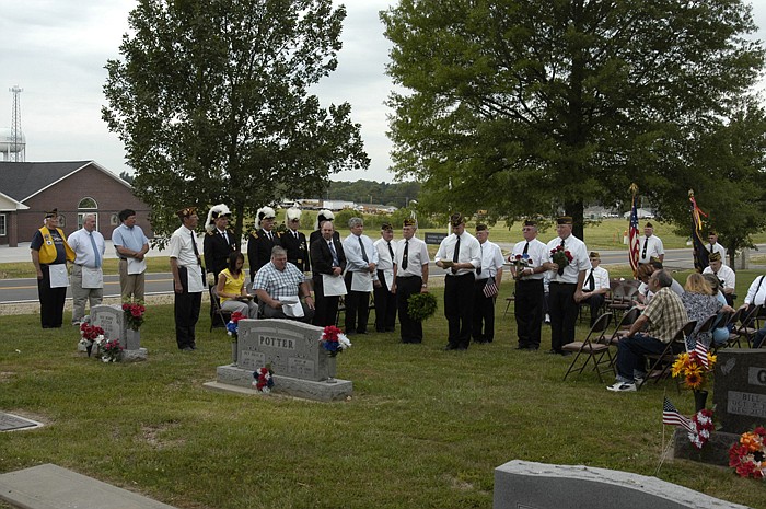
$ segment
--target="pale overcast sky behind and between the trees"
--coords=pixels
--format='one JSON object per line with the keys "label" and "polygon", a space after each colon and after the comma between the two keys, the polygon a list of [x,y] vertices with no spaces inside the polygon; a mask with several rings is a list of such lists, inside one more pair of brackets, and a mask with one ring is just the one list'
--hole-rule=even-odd
{"label": "pale overcast sky behind and between the trees", "polygon": [[[341,3],[336,1],[336,3]],[[349,102],[352,119],[372,163],[367,172],[344,172],[334,180],[391,182],[391,143],[386,138],[391,90],[384,73],[390,43],[378,13],[396,0],[346,0],[344,48],[338,70],[315,89],[324,105]],[[95,160],[106,169],[130,171],[121,142],[101,119],[105,104],[104,65],[119,57],[134,0],[0,0],[0,128],[10,127],[19,85],[26,161]],[[753,12],[766,39],[766,0]]]}

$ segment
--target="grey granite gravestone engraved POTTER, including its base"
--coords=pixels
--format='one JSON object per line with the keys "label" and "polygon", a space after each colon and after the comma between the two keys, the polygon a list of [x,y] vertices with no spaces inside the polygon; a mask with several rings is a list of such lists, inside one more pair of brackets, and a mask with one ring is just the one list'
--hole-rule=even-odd
{"label": "grey granite gravestone engraved POTTER, including its base", "polygon": [[[241,320],[239,323],[237,361],[220,366],[217,382],[210,389],[228,385],[252,387],[253,372],[266,365],[274,370],[275,393],[316,401],[344,400],[353,384],[335,379],[337,358],[322,348],[323,327],[292,320]],[[236,391],[241,392],[241,391]]]}

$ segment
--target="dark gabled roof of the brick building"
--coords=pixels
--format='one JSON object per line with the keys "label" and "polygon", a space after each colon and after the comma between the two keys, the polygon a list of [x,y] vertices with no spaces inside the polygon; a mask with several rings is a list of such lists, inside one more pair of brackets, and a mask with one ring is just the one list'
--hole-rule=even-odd
{"label": "dark gabled roof of the brick building", "polygon": [[0,193],[23,203],[89,165],[130,187],[95,161],[0,162]]}

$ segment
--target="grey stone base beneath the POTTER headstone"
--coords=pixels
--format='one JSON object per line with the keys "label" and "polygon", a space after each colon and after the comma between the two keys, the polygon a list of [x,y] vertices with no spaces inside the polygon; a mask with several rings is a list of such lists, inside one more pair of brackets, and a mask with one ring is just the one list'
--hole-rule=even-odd
{"label": "grey stone base beneath the POTTER headstone", "polygon": [[[217,370],[217,382],[206,383],[208,389],[225,390],[231,387],[232,392],[242,393],[242,389],[253,389],[253,370],[237,368],[236,366],[219,366]],[[254,392],[257,392],[254,390]],[[300,380],[291,377],[274,374],[275,394],[287,394],[293,397],[313,400],[320,402],[330,402],[346,400],[353,392],[353,383],[349,380],[335,379],[335,383],[314,382],[311,380]]]}

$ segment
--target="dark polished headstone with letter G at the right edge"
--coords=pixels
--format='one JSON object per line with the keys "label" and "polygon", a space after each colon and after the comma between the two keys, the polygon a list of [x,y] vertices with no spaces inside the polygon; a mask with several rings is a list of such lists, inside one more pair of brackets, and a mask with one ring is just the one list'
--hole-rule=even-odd
{"label": "dark polished headstone with letter G at the right edge", "polygon": [[713,402],[722,431],[739,435],[766,426],[766,349],[720,350]]}

